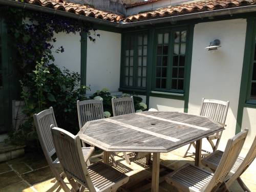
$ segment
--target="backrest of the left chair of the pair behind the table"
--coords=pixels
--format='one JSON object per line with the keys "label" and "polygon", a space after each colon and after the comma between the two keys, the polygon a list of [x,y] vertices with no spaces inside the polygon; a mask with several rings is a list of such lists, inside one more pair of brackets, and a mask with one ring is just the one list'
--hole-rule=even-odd
{"label": "backrest of the left chair of the pair behind the table", "polygon": [[80,129],[87,121],[103,119],[103,103],[102,100],[84,100],[77,101],[77,113]]}

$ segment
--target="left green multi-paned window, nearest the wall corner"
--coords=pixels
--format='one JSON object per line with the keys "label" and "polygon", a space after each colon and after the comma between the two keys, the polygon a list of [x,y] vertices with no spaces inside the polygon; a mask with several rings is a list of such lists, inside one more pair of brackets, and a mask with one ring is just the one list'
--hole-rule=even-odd
{"label": "left green multi-paned window, nearest the wall corner", "polygon": [[146,89],[147,41],[147,32],[123,34],[121,89]]}

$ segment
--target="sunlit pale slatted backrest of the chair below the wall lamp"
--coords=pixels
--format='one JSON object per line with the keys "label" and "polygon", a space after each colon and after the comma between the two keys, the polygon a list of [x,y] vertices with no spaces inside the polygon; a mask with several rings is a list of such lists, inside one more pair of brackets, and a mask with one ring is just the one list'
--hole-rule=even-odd
{"label": "sunlit pale slatted backrest of the chair below the wall lamp", "polygon": [[209,117],[218,123],[225,124],[228,105],[229,101],[203,98],[199,115]]}

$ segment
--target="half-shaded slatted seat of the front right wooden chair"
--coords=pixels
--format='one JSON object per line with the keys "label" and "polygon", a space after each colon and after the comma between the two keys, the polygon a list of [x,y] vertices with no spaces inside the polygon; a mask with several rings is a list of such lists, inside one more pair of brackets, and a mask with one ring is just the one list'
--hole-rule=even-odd
{"label": "half-shaded slatted seat of the front right wooden chair", "polygon": [[181,191],[201,191],[210,182],[214,174],[191,164],[185,164],[165,177],[167,183],[176,186]]}

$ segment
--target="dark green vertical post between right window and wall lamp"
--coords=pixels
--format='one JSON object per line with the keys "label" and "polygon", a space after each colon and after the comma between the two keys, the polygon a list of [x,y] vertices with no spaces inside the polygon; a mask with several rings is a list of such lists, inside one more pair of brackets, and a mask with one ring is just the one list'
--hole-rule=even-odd
{"label": "dark green vertical post between right window and wall lamp", "polygon": [[186,68],[185,68],[185,82],[184,82],[184,92],[185,92],[185,102],[184,102],[184,113],[188,112],[188,101],[189,101],[189,89],[190,89],[190,74],[191,74],[191,62],[193,53],[193,37],[194,37],[194,24],[189,25],[187,42],[188,46],[186,49]]}

